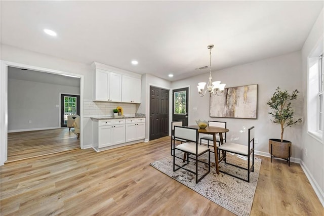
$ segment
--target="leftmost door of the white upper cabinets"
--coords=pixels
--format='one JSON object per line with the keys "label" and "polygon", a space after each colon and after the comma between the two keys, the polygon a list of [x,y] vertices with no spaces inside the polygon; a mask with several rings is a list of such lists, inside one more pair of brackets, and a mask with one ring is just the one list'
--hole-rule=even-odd
{"label": "leftmost door of the white upper cabinets", "polygon": [[109,97],[108,83],[110,79],[109,71],[96,69],[95,71],[95,92],[94,100],[107,101]]}

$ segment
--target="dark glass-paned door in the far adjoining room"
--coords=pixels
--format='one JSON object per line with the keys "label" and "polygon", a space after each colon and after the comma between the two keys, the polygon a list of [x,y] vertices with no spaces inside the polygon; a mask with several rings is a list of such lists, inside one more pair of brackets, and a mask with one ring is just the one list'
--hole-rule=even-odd
{"label": "dark glass-paned door in the far adjoining room", "polygon": [[61,94],[61,127],[66,127],[68,115],[79,115],[80,96]]}

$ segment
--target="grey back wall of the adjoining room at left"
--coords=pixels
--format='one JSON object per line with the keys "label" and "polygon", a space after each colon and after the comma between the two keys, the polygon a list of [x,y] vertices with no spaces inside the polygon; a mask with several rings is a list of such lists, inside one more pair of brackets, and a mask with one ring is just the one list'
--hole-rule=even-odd
{"label": "grey back wall of the adjoining room at left", "polygon": [[79,95],[80,88],[8,79],[8,132],[60,127],[60,93]]}

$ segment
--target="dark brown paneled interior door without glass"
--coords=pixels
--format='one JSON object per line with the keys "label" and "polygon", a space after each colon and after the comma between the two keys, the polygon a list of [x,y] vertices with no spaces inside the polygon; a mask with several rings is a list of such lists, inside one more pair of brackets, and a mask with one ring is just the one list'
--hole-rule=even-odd
{"label": "dark brown paneled interior door without glass", "polygon": [[150,87],[150,140],[169,135],[169,90]]}

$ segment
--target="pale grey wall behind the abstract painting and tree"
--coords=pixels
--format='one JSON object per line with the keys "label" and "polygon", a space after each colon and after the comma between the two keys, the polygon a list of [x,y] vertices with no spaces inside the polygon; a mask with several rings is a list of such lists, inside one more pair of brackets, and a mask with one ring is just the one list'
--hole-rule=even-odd
{"label": "pale grey wall behind the abstract painting and tree", "polygon": [[[258,84],[257,119],[209,117],[210,97],[209,95],[199,97],[196,88],[198,82],[207,82],[208,76],[209,74],[205,73],[172,83],[173,89],[190,85],[189,125],[195,124],[196,119],[226,121],[227,128],[229,129],[227,141],[235,141],[242,144],[247,144],[248,142],[246,133],[242,132],[246,131],[250,126],[255,126],[255,136],[258,139],[258,144],[255,147],[256,151],[259,154],[269,156],[268,140],[280,138],[280,125],[270,121],[270,115],[268,114],[270,109],[267,101],[278,86],[288,91],[301,90],[301,53],[294,52],[212,73],[213,80],[221,80],[222,83],[227,84],[227,88]],[[302,117],[302,104],[303,97],[299,95],[297,103],[293,104],[296,118]],[[193,107],[197,107],[197,111],[193,111]],[[302,125],[294,125],[285,130],[284,139],[290,140],[293,143],[293,158],[300,158],[301,156],[301,129]]]}

